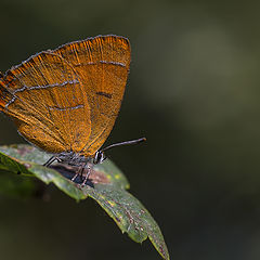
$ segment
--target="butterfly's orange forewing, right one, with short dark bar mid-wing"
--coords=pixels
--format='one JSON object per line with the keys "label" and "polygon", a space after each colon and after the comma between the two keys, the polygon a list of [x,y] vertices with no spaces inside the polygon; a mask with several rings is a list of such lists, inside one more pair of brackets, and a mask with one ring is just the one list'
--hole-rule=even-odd
{"label": "butterfly's orange forewing, right one, with short dark bar mid-wing", "polygon": [[53,53],[75,68],[88,93],[90,135],[81,154],[92,156],[110,133],[120,109],[130,66],[130,43],[117,36],[101,36],[65,44]]}

